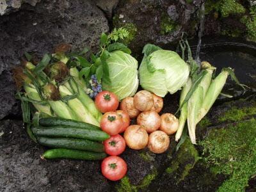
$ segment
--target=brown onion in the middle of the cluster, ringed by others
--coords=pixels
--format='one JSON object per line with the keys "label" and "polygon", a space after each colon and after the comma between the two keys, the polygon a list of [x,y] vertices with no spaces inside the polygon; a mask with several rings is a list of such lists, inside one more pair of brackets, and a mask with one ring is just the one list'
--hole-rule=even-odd
{"label": "brown onion in the middle of the cluster, ringed by others", "polygon": [[137,124],[147,132],[156,131],[161,125],[161,118],[156,111],[145,111],[137,117]]}

